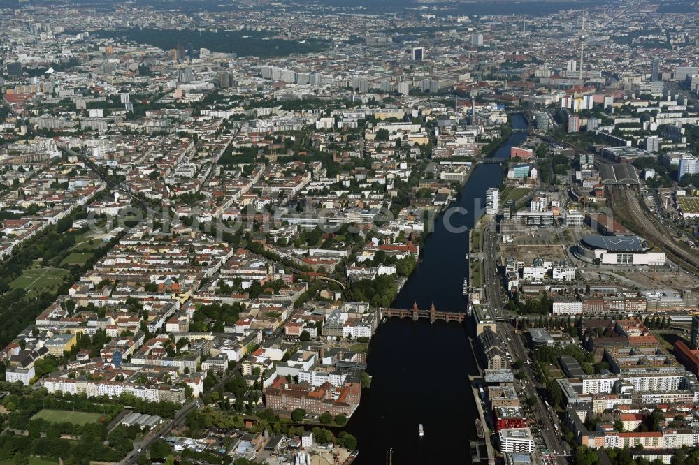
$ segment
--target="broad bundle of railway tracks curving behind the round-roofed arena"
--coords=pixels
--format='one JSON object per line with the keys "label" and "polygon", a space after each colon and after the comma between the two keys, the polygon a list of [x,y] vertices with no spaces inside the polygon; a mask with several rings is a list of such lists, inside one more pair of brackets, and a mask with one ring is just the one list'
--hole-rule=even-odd
{"label": "broad bundle of railway tracks curving behind the round-roofed arena", "polygon": [[637,187],[607,186],[607,202],[614,215],[628,228],[650,240],[685,270],[699,275],[699,257],[679,246],[663,224],[654,217],[640,198]]}

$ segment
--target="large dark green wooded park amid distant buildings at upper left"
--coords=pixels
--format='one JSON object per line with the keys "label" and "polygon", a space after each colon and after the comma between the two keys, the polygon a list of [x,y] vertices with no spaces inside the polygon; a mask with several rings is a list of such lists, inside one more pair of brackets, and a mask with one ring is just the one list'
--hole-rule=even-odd
{"label": "large dark green wooded park amid distant buildings at upper left", "polygon": [[163,50],[171,50],[178,43],[187,49],[192,44],[194,50],[201,47],[212,52],[236,53],[238,57],[285,57],[292,53],[312,53],[326,50],[329,46],[321,40],[308,39],[303,43],[297,40],[270,38],[267,32],[256,31],[193,31],[190,29],[131,29],[94,31],[99,37],[126,37],[138,43],[147,43]]}

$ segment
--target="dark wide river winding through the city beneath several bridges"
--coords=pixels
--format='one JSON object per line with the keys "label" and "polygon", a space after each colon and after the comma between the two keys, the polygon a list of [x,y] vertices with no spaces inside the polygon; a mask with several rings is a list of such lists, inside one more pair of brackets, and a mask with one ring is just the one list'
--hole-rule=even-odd
{"label": "dark wide river winding through the city beneath several bridges", "polygon": [[[511,123],[513,128],[527,127],[521,115],[514,115]],[[510,135],[496,158],[509,157],[510,147],[524,139],[526,134]],[[471,228],[482,214],[485,191],[502,182],[500,165],[478,165],[451,205],[463,209],[449,217],[452,228]],[[421,263],[392,307],[409,309],[417,302],[423,309],[434,303],[440,311],[466,311],[462,285],[468,232],[450,232],[444,219],[435,222]],[[470,463],[468,441],[476,438],[477,410],[468,375],[477,374],[477,367],[466,325],[398,318],[380,325],[368,354],[371,388],[362,392],[347,425],[359,444],[355,464],[387,463],[389,448],[396,465]]]}

